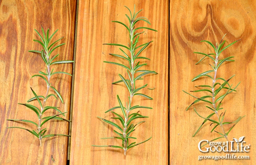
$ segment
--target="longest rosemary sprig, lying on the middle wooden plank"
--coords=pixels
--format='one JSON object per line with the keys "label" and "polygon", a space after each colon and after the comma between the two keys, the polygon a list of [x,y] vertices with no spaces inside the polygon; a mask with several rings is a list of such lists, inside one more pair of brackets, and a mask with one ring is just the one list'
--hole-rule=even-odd
{"label": "longest rosemary sprig, lying on the middle wooden plank", "polygon": [[[155,71],[140,70],[140,68],[142,66],[145,66],[146,63],[141,64],[138,61],[139,59],[149,60],[149,58],[142,57],[139,55],[152,41],[137,46],[137,43],[139,42],[139,35],[144,32],[144,31],[137,32],[138,30],[140,30],[140,29],[148,29],[148,30],[153,30],[153,31],[156,31],[156,30],[149,28],[149,27],[137,27],[136,28],[135,25],[138,21],[145,21],[146,23],[150,24],[149,20],[145,17],[137,17],[137,15],[139,14],[139,12],[142,11],[142,9],[135,13],[135,6],[134,6],[134,12],[132,14],[131,10],[128,7],[126,7],[126,8],[130,12],[130,17],[128,15],[126,15],[126,17],[129,20],[129,25],[127,26],[125,23],[122,23],[120,21],[112,21],[112,22],[122,24],[128,30],[129,35],[130,35],[130,43],[128,44],[128,46],[118,44],[118,43],[105,43],[104,45],[120,46],[121,47],[120,51],[123,53],[123,55],[119,55],[119,54],[110,54],[110,55],[113,55],[115,57],[119,57],[119,58],[122,58],[122,59],[128,61],[129,65],[126,66],[124,64],[116,63],[116,62],[107,62],[107,61],[104,61],[104,62],[114,64],[114,65],[119,65],[126,69],[128,78],[125,78],[123,75],[119,74],[120,80],[116,81],[112,84],[117,84],[117,83],[125,84],[125,87],[128,89],[130,96],[128,97],[128,102],[126,102],[126,107],[125,107],[125,106],[123,106],[122,101],[120,100],[119,96],[117,95],[117,100],[119,102],[119,106],[111,108],[110,110],[105,112],[105,113],[107,113],[107,112],[111,111],[111,113],[113,113],[116,116],[116,117],[112,117],[112,118],[115,120],[119,120],[121,125],[118,125],[117,123],[114,123],[113,121],[98,117],[98,118],[102,119],[103,121],[105,121],[106,123],[111,124],[117,128],[118,131],[114,130],[114,132],[117,134],[117,136],[110,137],[110,138],[121,139],[122,145],[120,145],[120,146],[117,146],[117,145],[93,145],[94,147],[121,148],[124,150],[124,155],[126,155],[126,151],[128,149],[135,147],[136,145],[142,144],[143,142],[146,142],[149,139],[151,139],[151,137],[150,137],[150,138],[146,139],[145,141],[142,141],[137,144],[136,144],[136,142],[129,143],[129,139],[137,139],[137,138],[131,136],[131,133],[135,130],[135,127],[138,124],[145,122],[145,121],[140,121],[139,123],[134,124],[133,120],[135,120],[137,118],[148,118],[148,116],[143,116],[143,115],[139,114],[139,111],[136,113],[132,113],[132,114],[130,114],[130,112],[131,112],[131,110],[134,110],[137,108],[152,109],[151,107],[145,107],[145,106],[139,106],[139,105],[134,106],[132,103],[133,103],[134,96],[142,96],[144,98],[152,100],[151,97],[149,97],[143,93],[139,93],[139,91],[141,89],[145,88],[148,84],[145,84],[141,87],[136,87],[136,81],[142,80],[143,79],[142,77],[145,75],[157,74]],[[127,53],[127,52],[129,52],[129,53]],[[121,109],[122,116],[113,111],[118,108]],[[104,139],[106,139],[106,138],[104,138]]]}

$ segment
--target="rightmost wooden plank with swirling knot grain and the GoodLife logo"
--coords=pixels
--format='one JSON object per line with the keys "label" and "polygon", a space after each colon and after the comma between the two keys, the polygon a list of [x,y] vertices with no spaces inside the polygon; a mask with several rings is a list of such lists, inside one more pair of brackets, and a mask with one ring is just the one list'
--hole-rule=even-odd
{"label": "rightmost wooden plank with swirling knot grain and the GoodLife logo", "polygon": [[[173,0],[170,8],[170,163],[171,164],[256,164],[254,156],[256,151],[255,137],[255,64],[256,64],[256,1],[253,0],[210,0],[187,1]],[[245,136],[245,145],[250,145],[250,151],[236,152],[236,156],[248,155],[250,159],[203,159],[198,156],[225,156],[225,152],[202,153],[198,150],[198,142],[203,139],[218,137],[216,133],[210,133],[212,126],[206,124],[202,130],[192,138],[192,135],[203,122],[202,118],[190,108],[185,111],[194,99],[185,90],[195,90],[194,86],[209,83],[209,79],[191,82],[192,78],[203,71],[210,70],[209,61],[204,60],[200,65],[195,65],[200,60],[200,55],[194,51],[210,53],[206,43],[200,40],[219,42],[222,36],[227,34],[225,40],[232,43],[241,39],[232,47],[226,49],[222,55],[235,56],[235,62],[226,63],[219,69],[218,76],[229,78],[236,74],[230,84],[235,86],[239,82],[238,91],[227,96],[223,108],[227,110],[226,121],[234,121],[239,116],[246,115],[230,132],[229,140]],[[223,57],[223,56],[222,56]],[[211,112],[204,104],[194,106],[203,116]],[[219,139],[217,141],[226,141]],[[241,144],[240,144],[241,145]],[[235,146],[236,147],[236,146]],[[229,152],[229,154],[233,154]]]}

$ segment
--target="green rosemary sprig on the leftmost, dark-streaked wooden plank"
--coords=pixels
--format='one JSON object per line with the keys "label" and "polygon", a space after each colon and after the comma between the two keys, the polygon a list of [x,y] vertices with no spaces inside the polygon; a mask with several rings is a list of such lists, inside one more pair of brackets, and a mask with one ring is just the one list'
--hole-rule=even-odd
{"label": "green rosemary sprig on the leftmost, dark-streaked wooden plank", "polygon": [[[30,120],[19,120],[19,119],[7,119],[9,121],[23,121],[23,122],[27,122],[27,123],[32,123],[37,127],[37,131],[36,130],[29,130],[23,127],[7,127],[7,128],[19,128],[19,129],[24,129],[29,131],[30,133],[32,133],[34,136],[36,136],[39,141],[40,141],[40,146],[42,146],[42,138],[47,138],[47,137],[52,137],[52,136],[57,136],[57,135],[61,135],[61,136],[69,136],[69,135],[64,135],[64,134],[49,134],[49,135],[45,135],[47,129],[44,128],[42,129],[43,124],[45,124],[47,121],[51,120],[51,119],[55,119],[55,120],[64,120],[64,121],[69,121],[70,120],[66,120],[64,118],[58,117],[59,115],[63,115],[67,113],[67,112],[61,112],[58,108],[59,107],[53,107],[53,106],[46,106],[46,101],[47,99],[49,99],[51,96],[53,96],[55,99],[58,98],[61,100],[61,102],[63,103],[63,99],[60,95],[60,93],[58,92],[58,90],[55,89],[55,87],[52,86],[51,83],[51,77],[55,74],[67,74],[72,76],[69,73],[66,72],[53,72],[53,69],[51,70],[51,66],[52,65],[56,65],[56,64],[64,64],[64,63],[73,63],[74,61],[72,60],[63,60],[63,61],[53,61],[59,54],[57,55],[51,55],[52,52],[58,48],[59,46],[64,45],[65,43],[61,43],[57,46],[54,46],[55,43],[57,43],[59,40],[61,40],[63,37],[61,37],[60,39],[56,40],[55,42],[50,44],[50,40],[52,39],[53,35],[58,31],[56,30],[51,36],[49,36],[49,29],[47,30],[47,33],[45,34],[44,29],[42,27],[42,32],[43,32],[43,36],[38,33],[37,30],[35,30],[36,33],[38,34],[38,36],[40,37],[40,40],[35,40],[35,42],[40,43],[40,45],[43,46],[42,51],[37,51],[37,50],[31,50],[29,52],[35,52],[35,53],[40,53],[41,57],[43,59],[43,62],[46,64],[46,72],[42,72],[39,71],[39,74],[34,75],[32,77],[40,77],[43,78],[43,80],[46,82],[47,85],[47,90],[46,90],[46,94],[44,96],[38,96],[35,91],[30,87],[30,89],[32,90],[32,93],[34,94],[35,97],[29,99],[27,102],[31,102],[31,101],[38,101],[40,107],[35,107],[34,105],[31,104],[21,104],[20,105],[24,105],[25,107],[29,108],[30,110],[34,111],[35,114],[37,114],[38,117],[38,124],[35,123],[34,121],[30,121]],[[50,90],[53,90],[54,93],[50,93]],[[43,99],[43,101],[41,101]],[[43,114],[47,111],[47,110],[55,110],[58,112],[58,114],[52,115],[52,116],[47,116],[47,117],[43,117]]]}

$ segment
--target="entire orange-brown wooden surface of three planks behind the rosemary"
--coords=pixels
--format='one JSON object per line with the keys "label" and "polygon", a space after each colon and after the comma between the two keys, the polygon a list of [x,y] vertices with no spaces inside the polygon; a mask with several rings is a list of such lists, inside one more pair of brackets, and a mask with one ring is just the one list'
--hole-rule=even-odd
{"label": "entire orange-brown wooden surface of three planks behind the rosemary", "polygon": [[[168,4],[170,3],[170,4]],[[148,115],[146,122],[137,127],[134,136],[137,142],[150,136],[148,142],[128,150],[127,156],[123,151],[114,148],[96,148],[95,145],[118,143],[117,140],[100,139],[113,136],[113,127],[103,123],[97,116],[110,119],[110,114],[104,112],[118,105],[116,95],[125,102],[127,90],[122,85],[112,85],[119,80],[118,74],[125,74],[119,66],[103,63],[103,61],[120,62],[109,53],[119,54],[117,47],[102,45],[102,43],[128,43],[126,29],[120,24],[111,21],[127,23],[125,14],[127,6],[133,10],[143,9],[140,16],[146,17],[151,25],[140,24],[155,28],[158,32],[146,30],[140,37],[141,43],[153,40],[143,55],[151,58],[145,69],[154,70],[158,75],[145,77],[142,83],[148,83],[149,88],[144,90],[153,98],[152,101],[140,100],[139,105],[147,105],[152,110],[141,110]],[[79,0],[75,84],[73,96],[72,139],[70,164],[249,164],[256,163],[253,147],[256,145],[255,136],[255,48],[256,37],[256,1],[254,0],[172,0],[143,1],[134,0]],[[168,13],[169,10],[169,13]],[[50,28],[50,33],[59,29],[55,39],[64,36],[59,48],[59,60],[73,58],[73,43],[75,34],[75,1],[0,1],[0,164],[66,164],[67,138],[57,137],[44,141],[39,147],[37,138],[29,132],[18,129],[6,129],[8,126],[24,126],[20,123],[6,121],[7,118],[30,119],[35,115],[17,103],[25,103],[33,95],[32,87],[38,93],[44,93],[39,88],[45,85],[37,78],[31,78],[38,71],[44,69],[40,55],[27,52],[38,49],[40,46],[33,42],[38,39],[34,28],[40,31],[41,25]],[[168,15],[169,14],[169,15]],[[168,20],[170,27],[168,25]],[[168,30],[170,35],[168,36]],[[227,43],[241,39],[232,47],[223,52],[224,57],[235,56],[235,62],[227,63],[220,68],[219,76],[229,78],[233,85],[241,82],[237,92],[229,95],[223,102],[227,110],[225,120],[233,121],[239,116],[245,117],[234,127],[229,139],[245,136],[246,145],[250,145],[248,155],[250,159],[222,159],[198,160],[198,156],[218,156],[226,153],[202,153],[198,150],[198,142],[202,139],[218,137],[210,133],[211,126],[206,124],[197,136],[192,138],[203,120],[187,106],[194,99],[182,90],[195,90],[194,86],[209,83],[207,79],[191,82],[199,73],[209,70],[209,61],[195,65],[200,56],[194,51],[210,53],[212,49],[201,40],[219,42],[226,34]],[[168,50],[168,40],[169,50]],[[168,60],[170,68],[168,70]],[[72,72],[72,65],[59,65],[56,70]],[[170,82],[168,82],[170,76]],[[60,90],[64,105],[61,111],[69,111],[71,78],[66,75],[54,79],[55,86]],[[66,82],[66,83],[63,83]],[[169,83],[169,93],[168,93]],[[65,93],[64,93],[65,92]],[[125,95],[122,95],[125,94]],[[168,100],[169,95],[169,100]],[[169,126],[168,126],[169,101]],[[54,102],[59,105],[60,101]],[[207,116],[203,104],[194,106]],[[69,114],[66,115],[67,118]],[[27,125],[31,127],[31,125]],[[67,133],[68,124],[52,122],[47,125],[50,129],[58,127],[54,132]],[[169,139],[168,139],[169,129]],[[169,140],[169,144],[168,144]],[[225,141],[225,140],[220,140]],[[168,148],[169,147],[169,148]],[[169,157],[168,157],[169,151]],[[55,160],[52,161],[51,156]],[[169,159],[169,160],[168,160]]]}

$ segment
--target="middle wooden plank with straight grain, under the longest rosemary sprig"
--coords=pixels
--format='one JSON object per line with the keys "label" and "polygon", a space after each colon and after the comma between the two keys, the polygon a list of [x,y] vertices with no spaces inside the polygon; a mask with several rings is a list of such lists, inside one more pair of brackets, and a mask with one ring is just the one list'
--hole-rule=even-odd
{"label": "middle wooden plank with straight grain, under the longest rosemary sprig", "polygon": [[[133,11],[143,9],[139,16],[149,19],[151,26],[158,32],[146,30],[141,36],[141,42],[154,42],[143,55],[151,58],[145,69],[155,70],[158,75],[145,77],[149,88],[146,94],[153,101],[141,100],[137,104],[147,105],[153,110],[141,110],[148,115],[146,122],[134,132],[137,142],[152,136],[148,142],[128,150],[126,157],[123,150],[113,148],[97,148],[91,145],[117,145],[113,139],[100,139],[114,136],[113,127],[103,123],[97,116],[110,119],[110,114],[104,114],[108,109],[118,105],[116,95],[125,102],[123,93],[128,91],[122,85],[112,85],[119,80],[118,74],[126,71],[119,66],[103,63],[103,61],[118,60],[108,55],[120,53],[119,48],[102,43],[128,42],[126,29],[111,21],[127,23],[124,7]],[[140,24],[142,25],[142,24]],[[139,25],[138,25],[139,26]],[[167,1],[79,1],[78,30],[76,45],[75,84],[73,99],[72,141],[70,164],[148,164],[164,165],[168,163],[168,2]],[[117,113],[119,113],[117,111]],[[119,141],[120,142],[120,141]],[[120,144],[119,144],[120,145]]]}

